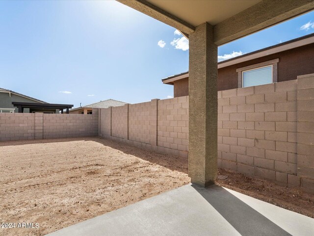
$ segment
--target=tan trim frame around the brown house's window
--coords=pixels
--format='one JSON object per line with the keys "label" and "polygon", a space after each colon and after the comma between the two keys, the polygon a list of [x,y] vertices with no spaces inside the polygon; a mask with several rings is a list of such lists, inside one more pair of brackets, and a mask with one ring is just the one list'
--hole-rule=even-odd
{"label": "tan trim frame around the brown house's window", "polygon": [[237,68],[236,69],[236,72],[238,73],[238,83],[237,83],[238,86],[237,87],[243,88],[243,72],[254,70],[254,69],[259,69],[259,68],[270,66],[270,65],[272,65],[272,83],[277,83],[278,82],[278,62],[279,62],[279,58],[276,58],[272,60],[263,61],[261,63]]}

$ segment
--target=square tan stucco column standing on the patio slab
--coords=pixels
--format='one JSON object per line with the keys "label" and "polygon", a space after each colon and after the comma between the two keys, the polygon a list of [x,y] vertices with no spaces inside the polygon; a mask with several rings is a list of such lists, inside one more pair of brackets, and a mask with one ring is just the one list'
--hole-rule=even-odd
{"label": "square tan stucco column standing on the patio slab", "polygon": [[217,177],[217,46],[213,27],[189,34],[189,154],[191,182],[208,186]]}

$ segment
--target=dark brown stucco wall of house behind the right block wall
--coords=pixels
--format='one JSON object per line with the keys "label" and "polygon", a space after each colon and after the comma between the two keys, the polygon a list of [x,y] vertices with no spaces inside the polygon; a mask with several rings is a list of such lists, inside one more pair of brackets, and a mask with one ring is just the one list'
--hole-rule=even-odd
{"label": "dark brown stucco wall of house behind the right block wall", "polygon": [[[218,69],[217,90],[228,90],[238,88],[238,73],[236,69],[279,59],[278,82],[295,80],[298,75],[314,73],[314,44],[293,48],[266,57],[257,58],[230,65]],[[174,97],[188,95],[188,78],[174,81]]]}

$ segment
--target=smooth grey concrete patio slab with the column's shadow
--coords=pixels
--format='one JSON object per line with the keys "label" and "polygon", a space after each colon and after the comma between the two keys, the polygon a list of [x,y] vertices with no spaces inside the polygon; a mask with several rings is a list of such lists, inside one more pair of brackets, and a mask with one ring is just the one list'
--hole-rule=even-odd
{"label": "smooth grey concrete patio slab with the column's shadow", "polygon": [[314,219],[221,186],[185,185],[49,236],[310,236]]}

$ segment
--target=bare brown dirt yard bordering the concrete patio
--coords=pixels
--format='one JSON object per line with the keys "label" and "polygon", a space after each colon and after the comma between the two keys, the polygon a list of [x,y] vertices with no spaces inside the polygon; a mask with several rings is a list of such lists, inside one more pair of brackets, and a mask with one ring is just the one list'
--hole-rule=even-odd
{"label": "bare brown dirt yard bordering the concrete patio", "polygon": [[[98,137],[0,143],[0,235],[45,235],[187,184],[187,159]],[[314,218],[314,195],[219,170],[217,184]],[[35,225],[34,225],[35,227]]]}

